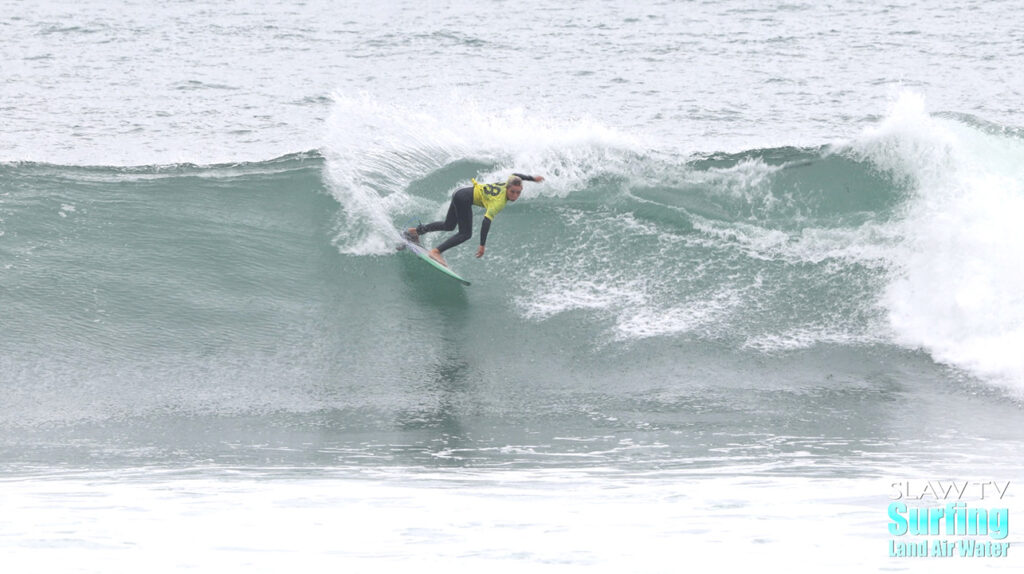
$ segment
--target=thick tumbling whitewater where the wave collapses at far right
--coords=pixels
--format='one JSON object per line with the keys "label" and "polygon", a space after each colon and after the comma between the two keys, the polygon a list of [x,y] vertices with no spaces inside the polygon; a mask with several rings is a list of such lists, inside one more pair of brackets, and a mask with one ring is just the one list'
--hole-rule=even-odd
{"label": "thick tumbling whitewater where the wave collapses at far right", "polygon": [[852,147],[913,189],[883,296],[898,340],[1024,389],[1024,142],[903,94]]}

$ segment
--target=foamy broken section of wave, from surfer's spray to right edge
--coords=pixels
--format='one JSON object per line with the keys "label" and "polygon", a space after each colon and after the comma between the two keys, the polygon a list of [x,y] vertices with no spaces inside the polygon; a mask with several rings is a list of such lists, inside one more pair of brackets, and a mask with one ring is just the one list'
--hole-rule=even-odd
{"label": "foamy broken section of wave, from surfer's spray to right edge", "polygon": [[[1024,383],[1019,130],[932,117],[905,94],[848,142],[683,156],[465,102],[429,116],[337,103],[327,171],[351,177],[331,189],[367,223],[339,235],[343,253],[385,253],[387,221],[440,218],[470,176],[528,166],[554,177],[503,218],[509,248],[493,258],[521,317],[586,318],[599,343],[896,343]],[[482,128],[445,128],[463,123]],[[381,141],[346,138],[366,131]]]}

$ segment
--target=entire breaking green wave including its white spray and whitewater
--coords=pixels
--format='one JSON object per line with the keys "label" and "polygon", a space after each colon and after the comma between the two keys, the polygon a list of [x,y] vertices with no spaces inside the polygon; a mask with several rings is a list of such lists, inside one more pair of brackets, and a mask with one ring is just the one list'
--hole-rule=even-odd
{"label": "entire breaking green wave including its white spray and whitewater", "polygon": [[[593,437],[696,401],[749,435],[897,376],[1024,387],[1012,129],[906,96],[848,142],[683,154],[596,122],[338,96],[328,130],[321,150],[251,164],[0,165],[0,425]],[[548,181],[501,214],[482,260],[450,252],[472,288],[394,253],[395,229],[511,171]],[[836,374],[839,398],[743,418],[767,389]],[[861,406],[846,423],[866,437]],[[658,440],[685,427],[663,423]]]}

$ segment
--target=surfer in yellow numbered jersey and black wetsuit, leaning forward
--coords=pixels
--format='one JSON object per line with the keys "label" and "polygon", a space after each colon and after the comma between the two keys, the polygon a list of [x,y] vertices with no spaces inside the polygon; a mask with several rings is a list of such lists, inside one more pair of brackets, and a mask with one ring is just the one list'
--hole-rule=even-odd
{"label": "surfer in yellow numbered jersey and black wetsuit, leaning forward", "polygon": [[409,240],[419,242],[420,235],[424,233],[451,231],[458,225],[458,233],[429,252],[431,259],[445,267],[447,267],[447,262],[444,261],[441,254],[473,236],[473,206],[479,206],[486,210],[483,214],[483,223],[480,224],[480,247],[476,249],[476,257],[479,258],[483,257],[490,222],[495,220],[498,212],[505,209],[506,202],[514,202],[519,198],[519,195],[522,194],[523,181],[540,183],[544,181],[544,177],[514,173],[504,183],[477,183],[475,179],[472,181],[472,186],[463,187],[452,194],[452,205],[449,206],[449,213],[444,221],[435,221],[426,225],[421,223],[406,230],[406,237]]}

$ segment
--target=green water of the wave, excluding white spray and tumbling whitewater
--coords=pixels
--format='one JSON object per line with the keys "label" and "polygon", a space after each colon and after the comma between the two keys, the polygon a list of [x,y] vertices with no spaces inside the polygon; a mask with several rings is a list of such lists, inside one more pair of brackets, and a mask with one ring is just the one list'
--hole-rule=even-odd
{"label": "green water of the wave, excluding white spray and tumbling whitewater", "polygon": [[366,214],[442,213],[483,161],[358,208],[319,152],[3,166],[5,465],[846,476],[1019,438],[988,425],[1012,392],[891,334],[906,181],[825,147],[612,151],[632,171],[527,184],[483,259],[451,252],[471,288]]}

